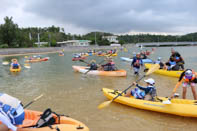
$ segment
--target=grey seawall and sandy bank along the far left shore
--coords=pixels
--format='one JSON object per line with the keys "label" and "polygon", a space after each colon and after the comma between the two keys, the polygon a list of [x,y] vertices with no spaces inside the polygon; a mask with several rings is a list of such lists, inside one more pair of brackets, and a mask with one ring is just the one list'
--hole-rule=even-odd
{"label": "grey seawall and sandy bank along the far left shore", "polygon": [[[67,46],[67,47],[43,47],[43,48],[2,48],[0,49],[0,57],[3,56],[19,56],[19,55],[31,55],[31,54],[48,54],[48,53],[57,53],[59,51],[83,51],[83,50],[92,50],[92,49],[114,49],[117,47],[112,46],[86,46],[86,47],[76,47],[76,46]],[[119,48],[119,47],[118,47]]]}

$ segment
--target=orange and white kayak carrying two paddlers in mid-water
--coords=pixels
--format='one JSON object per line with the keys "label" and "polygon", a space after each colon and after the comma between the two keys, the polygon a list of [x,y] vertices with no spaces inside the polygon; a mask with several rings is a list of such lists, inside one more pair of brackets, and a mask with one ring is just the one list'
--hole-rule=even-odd
{"label": "orange and white kayak carrying two paddlers in mid-water", "polygon": [[99,70],[91,70],[89,71],[89,67],[85,66],[72,66],[73,70],[80,73],[86,73],[90,75],[101,75],[101,76],[126,76],[127,72],[125,70],[117,70],[117,71],[99,71]]}

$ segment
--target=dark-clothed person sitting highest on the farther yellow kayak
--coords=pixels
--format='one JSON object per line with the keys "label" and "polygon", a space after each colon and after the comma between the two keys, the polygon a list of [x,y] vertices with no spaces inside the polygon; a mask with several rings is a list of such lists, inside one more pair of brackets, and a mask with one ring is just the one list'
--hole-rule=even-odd
{"label": "dark-clothed person sitting highest on the farther yellow kayak", "polygon": [[184,70],[184,64],[185,64],[184,59],[182,58],[180,53],[175,51],[173,48],[171,49],[170,58],[172,58],[176,62],[177,69]]}

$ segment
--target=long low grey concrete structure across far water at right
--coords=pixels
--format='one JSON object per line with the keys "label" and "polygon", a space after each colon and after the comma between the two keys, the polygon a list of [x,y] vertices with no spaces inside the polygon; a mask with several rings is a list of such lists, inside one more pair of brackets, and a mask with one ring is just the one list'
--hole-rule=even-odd
{"label": "long low grey concrete structure across far water at right", "polygon": [[137,43],[136,46],[187,46],[197,45],[197,42],[152,42],[152,43]]}

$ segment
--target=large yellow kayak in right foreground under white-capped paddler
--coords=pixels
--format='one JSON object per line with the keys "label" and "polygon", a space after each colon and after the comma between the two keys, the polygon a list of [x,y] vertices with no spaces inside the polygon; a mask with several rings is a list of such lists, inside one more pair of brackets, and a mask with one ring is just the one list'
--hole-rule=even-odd
{"label": "large yellow kayak in right foreground under white-capped paddler", "polygon": [[[118,93],[120,93],[107,88],[103,88],[102,91],[104,95],[110,100],[116,97]],[[162,101],[167,100],[167,98],[164,97],[158,98]],[[171,104],[163,104],[161,101],[153,102],[148,100],[135,99],[134,97],[119,96],[117,99],[115,99],[115,102],[144,110],[162,112],[178,116],[197,117],[196,100],[172,99]]]}

